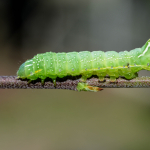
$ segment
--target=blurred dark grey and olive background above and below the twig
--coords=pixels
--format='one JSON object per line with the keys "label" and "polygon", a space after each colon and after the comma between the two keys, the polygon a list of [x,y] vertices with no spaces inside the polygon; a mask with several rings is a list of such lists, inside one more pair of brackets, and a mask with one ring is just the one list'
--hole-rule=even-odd
{"label": "blurred dark grey and olive background above and below the twig", "polygon": [[[0,75],[16,75],[47,51],[142,47],[150,38],[149,8],[149,0],[1,0]],[[0,90],[0,149],[150,149],[149,93]]]}

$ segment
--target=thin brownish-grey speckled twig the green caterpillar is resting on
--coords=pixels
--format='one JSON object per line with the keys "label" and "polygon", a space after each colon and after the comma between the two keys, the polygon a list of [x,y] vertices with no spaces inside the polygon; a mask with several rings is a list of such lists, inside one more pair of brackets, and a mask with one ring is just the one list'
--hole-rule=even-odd
{"label": "thin brownish-grey speckled twig the green caterpillar is resting on", "polygon": [[[45,81],[42,85],[40,80],[35,83],[28,83],[27,80],[17,79],[16,76],[0,76],[0,89],[68,89],[77,90],[77,84],[81,82],[80,79],[65,79],[64,81],[57,81],[56,86],[53,82]],[[116,82],[110,82],[109,78],[106,78],[104,82],[100,82],[98,78],[90,78],[87,83],[91,86],[97,86],[100,88],[149,88],[150,77],[137,77],[132,80],[126,80],[119,78]]]}

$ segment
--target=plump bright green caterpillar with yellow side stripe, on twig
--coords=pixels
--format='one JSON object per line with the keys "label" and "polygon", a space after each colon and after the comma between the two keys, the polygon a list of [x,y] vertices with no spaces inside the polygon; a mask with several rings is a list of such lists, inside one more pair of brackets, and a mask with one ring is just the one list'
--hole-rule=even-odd
{"label": "plump bright green caterpillar with yellow side stripe, on twig", "polygon": [[[114,82],[119,76],[126,79],[135,78],[139,70],[150,70],[150,39],[142,48],[129,52],[81,51],[37,54],[20,66],[17,76],[30,81],[41,78],[42,83],[49,77],[55,83],[57,77],[63,78],[67,75],[82,75],[83,81],[92,75],[97,75],[100,81],[103,81],[104,77],[109,75],[110,80]],[[80,91],[89,88],[81,82],[77,89]]]}

